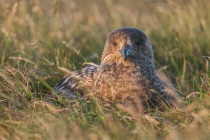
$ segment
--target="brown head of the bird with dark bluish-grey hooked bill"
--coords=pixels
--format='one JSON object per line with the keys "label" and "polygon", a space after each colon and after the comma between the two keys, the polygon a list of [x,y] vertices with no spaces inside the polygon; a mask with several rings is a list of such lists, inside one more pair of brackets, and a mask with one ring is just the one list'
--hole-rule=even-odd
{"label": "brown head of the bird with dark bluish-grey hooked bill", "polygon": [[110,33],[106,40],[101,63],[153,62],[152,45],[147,35],[136,28],[119,28]]}

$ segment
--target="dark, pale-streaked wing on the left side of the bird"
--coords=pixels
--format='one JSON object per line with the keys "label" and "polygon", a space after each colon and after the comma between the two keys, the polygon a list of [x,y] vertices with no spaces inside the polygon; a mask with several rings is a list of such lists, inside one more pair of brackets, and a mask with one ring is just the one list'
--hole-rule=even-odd
{"label": "dark, pale-streaked wing on the left side of the bird", "polygon": [[55,85],[55,92],[69,99],[77,99],[83,96],[89,90],[92,90],[94,75],[98,68],[98,65],[91,64],[66,75]]}

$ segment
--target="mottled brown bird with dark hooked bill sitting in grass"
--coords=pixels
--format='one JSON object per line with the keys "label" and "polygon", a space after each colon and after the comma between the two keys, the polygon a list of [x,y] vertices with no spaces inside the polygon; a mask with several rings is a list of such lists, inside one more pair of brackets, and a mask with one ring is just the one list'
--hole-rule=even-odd
{"label": "mottled brown bird with dark hooked bill sitting in grass", "polygon": [[140,29],[121,27],[108,35],[100,65],[88,64],[71,72],[54,91],[70,100],[91,95],[137,111],[184,108],[171,82],[156,72],[148,36]]}

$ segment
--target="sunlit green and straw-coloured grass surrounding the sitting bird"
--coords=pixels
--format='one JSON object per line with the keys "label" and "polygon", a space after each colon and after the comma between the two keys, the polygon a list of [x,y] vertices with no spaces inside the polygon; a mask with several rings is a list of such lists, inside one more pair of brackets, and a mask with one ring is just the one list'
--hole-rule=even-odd
{"label": "sunlit green and straw-coloured grass surrounding the sitting bird", "polygon": [[[0,1],[0,139],[208,139],[209,6],[204,0]],[[148,34],[156,67],[172,79],[185,111],[138,116],[49,94],[69,70],[100,63],[107,35],[122,26]]]}

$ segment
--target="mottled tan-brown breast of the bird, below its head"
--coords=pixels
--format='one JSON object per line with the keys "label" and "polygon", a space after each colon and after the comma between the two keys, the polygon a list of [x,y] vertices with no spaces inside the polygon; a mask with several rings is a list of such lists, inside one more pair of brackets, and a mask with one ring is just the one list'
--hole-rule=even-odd
{"label": "mottled tan-brown breast of the bird, below its head", "polygon": [[103,100],[117,102],[127,98],[147,100],[150,96],[148,81],[139,66],[116,63],[98,71],[93,91]]}

